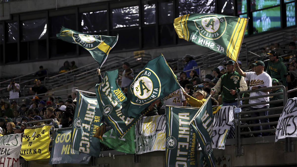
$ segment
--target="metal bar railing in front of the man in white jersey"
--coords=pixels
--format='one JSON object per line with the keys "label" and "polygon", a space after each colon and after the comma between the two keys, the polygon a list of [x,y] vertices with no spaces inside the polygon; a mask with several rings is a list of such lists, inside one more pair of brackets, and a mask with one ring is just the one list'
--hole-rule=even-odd
{"label": "metal bar railing in front of the man in white jersey", "polygon": [[[270,89],[276,89],[276,88],[283,88],[283,92],[265,94],[265,95],[259,95],[259,96],[253,96],[253,97],[240,98],[241,94],[244,94],[244,93],[258,92],[258,91],[263,91],[263,90],[269,91]],[[243,101],[243,100],[250,100],[250,99],[256,99],[256,98],[261,98],[261,97],[276,96],[276,95],[281,95],[281,94],[284,96],[283,100],[274,100],[274,101],[268,101],[268,102],[240,105],[240,101]],[[283,86],[283,85],[264,87],[264,88],[255,89],[255,90],[247,90],[247,91],[238,92],[237,99],[238,99],[237,100],[238,107],[252,107],[252,106],[255,106],[255,105],[276,104],[276,103],[280,103],[280,102],[283,102],[283,106],[285,106],[286,102],[287,102],[286,89],[285,89],[285,86]],[[239,112],[238,114],[235,114],[235,119],[236,119],[236,123],[237,123],[237,126],[236,126],[237,129],[235,130],[235,133],[236,133],[236,147],[237,147],[236,148],[236,155],[242,155],[241,154],[241,135],[253,134],[253,133],[275,132],[276,131],[276,129],[268,129],[268,130],[257,130],[257,131],[251,131],[251,132],[241,132],[241,128],[243,128],[243,127],[256,127],[256,126],[262,126],[262,125],[275,125],[275,124],[278,123],[278,122],[265,122],[265,123],[252,124],[252,125],[240,125],[241,121],[249,121],[249,120],[255,120],[255,119],[279,117],[281,114],[274,114],[274,115],[268,115],[268,116],[258,116],[258,117],[251,117],[251,118],[241,118],[240,115],[241,114],[256,113],[256,112],[265,112],[265,111],[282,111],[283,108],[284,108],[283,106],[282,107],[274,107],[274,108],[265,108],[265,109],[259,109],[259,110],[251,110],[251,111],[242,111],[242,112]]]}

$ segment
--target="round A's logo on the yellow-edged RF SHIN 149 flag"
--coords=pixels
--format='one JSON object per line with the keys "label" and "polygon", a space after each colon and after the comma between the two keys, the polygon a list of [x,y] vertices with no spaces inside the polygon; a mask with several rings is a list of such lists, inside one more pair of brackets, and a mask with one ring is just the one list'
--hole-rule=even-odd
{"label": "round A's logo on the yellow-edged RF SHIN 149 flag", "polygon": [[199,34],[209,40],[219,39],[226,30],[227,23],[223,16],[205,15],[195,20]]}

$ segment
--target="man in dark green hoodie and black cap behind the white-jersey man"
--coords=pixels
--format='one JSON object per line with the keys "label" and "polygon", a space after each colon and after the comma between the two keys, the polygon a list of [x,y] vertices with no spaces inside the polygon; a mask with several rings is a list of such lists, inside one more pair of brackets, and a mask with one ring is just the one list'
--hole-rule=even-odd
{"label": "man in dark green hoodie and black cap behind the white-jersey man", "polygon": [[270,75],[271,78],[275,78],[278,81],[282,82],[282,85],[285,87],[288,86],[287,80],[284,77],[287,74],[287,67],[283,63],[283,58],[278,57],[277,51],[272,50],[267,53],[269,56],[268,66],[267,66],[267,74]]}

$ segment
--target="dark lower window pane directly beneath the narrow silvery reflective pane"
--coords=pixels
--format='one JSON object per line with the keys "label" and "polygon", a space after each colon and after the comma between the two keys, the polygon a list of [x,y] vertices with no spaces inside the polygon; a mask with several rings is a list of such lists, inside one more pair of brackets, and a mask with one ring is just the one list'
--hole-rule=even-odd
{"label": "dark lower window pane directly beneath the narrow silvery reflective pane", "polygon": [[142,43],[143,47],[156,46],[156,27],[143,27],[142,28]]}

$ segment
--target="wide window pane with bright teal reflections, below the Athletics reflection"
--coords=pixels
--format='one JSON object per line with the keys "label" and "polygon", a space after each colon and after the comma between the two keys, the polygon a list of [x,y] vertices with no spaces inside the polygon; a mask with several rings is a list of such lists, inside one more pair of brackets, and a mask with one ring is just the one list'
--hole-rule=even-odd
{"label": "wide window pane with bright teal reflections, below the Athletics reflection", "polygon": [[278,28],[280,28],[280,7],[253,12],[254,34]]}

